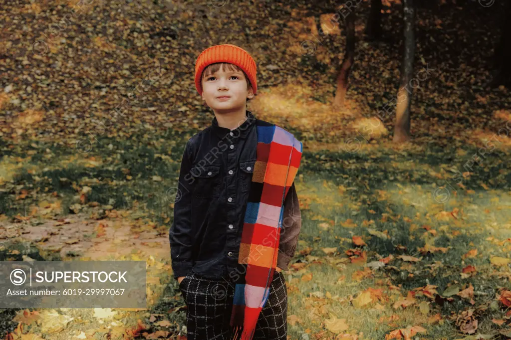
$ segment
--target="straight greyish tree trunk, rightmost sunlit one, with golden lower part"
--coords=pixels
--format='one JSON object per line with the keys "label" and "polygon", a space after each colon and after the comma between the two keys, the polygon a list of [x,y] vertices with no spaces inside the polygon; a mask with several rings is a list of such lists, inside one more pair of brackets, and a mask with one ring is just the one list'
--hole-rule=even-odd
{"label": "straight greyish tree trunk, rightmost sunlit one, with golden lower part", "polygon": [[413,76],[413,57],[415,54],[414,22],[415,6],[413,0],[403,0],[404,49],[396,105],[396,126],[393,141],[396,143],[410,140],[410,104],[413,89],[410,80]]}

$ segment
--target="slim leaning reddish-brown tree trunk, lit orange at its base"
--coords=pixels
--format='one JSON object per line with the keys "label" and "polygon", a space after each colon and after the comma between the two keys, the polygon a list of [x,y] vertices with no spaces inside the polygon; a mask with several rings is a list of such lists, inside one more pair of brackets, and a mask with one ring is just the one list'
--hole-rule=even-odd
{"label": "slim leaning reddish-brown tree trunk, lit orange at its base", "polygon": [[344,19],[346,26],[346,51],[344,52],[344,59],[337,70],[337,89],[334,98],[334,106],[337,108],[344,105],[348,78],[350,77],[351,67],[355,60],[355,11],[351,11]]}

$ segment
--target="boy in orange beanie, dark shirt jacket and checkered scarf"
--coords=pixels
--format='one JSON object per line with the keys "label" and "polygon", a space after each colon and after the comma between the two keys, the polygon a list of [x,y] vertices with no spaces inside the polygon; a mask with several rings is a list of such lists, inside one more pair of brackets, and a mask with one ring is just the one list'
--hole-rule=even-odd
{"label": "boy in orange beanie, dark shirt jacket and checkered scarf", "polygon": [[293,179],[302,145],[246,109],[256,72],[231,44],[196,61],[195,86],[215,118],[187,142],[169,231],[189,340],[287,339],[281,271],[301,228]]}

